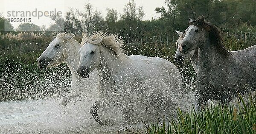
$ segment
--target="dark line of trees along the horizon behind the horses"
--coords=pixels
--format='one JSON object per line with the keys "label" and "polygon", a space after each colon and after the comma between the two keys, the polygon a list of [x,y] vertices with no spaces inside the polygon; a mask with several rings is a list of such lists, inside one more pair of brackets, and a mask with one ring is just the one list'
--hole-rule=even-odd
{"label": "dark line of trees along the horizon behind the horses", "polygon": [[[66,31],[67,29],[68,32],[78,35],[102,30],[119,33],[126,42],[131,42],[148,37],[172,38],[177,36],[175,30],[185,30],[189,18],[195,20],[198,16],[204,15],[206,20],[218,25],[223,31],[255,32],[255,2],[255,0],[165,0],[165,6],[152,9],[161,14],[156,20],[153,18],[143,20],[145,16],[143,7],[137,6],[134,0],[124,5],[123,13],[107,8],[105,18],[90,3],[86,3],[83,11],[70,8],[64,18],[52,17],[55,24],[52,24],[48,30]],[[2,23],[0,21],[0,25]],[[25,29],[23,27],[26,25],[28,24],[20,25],[17,31]],[[36,25],[33,25],[33,28],[38,29]],[[47,31],[45,28],[41,29]]]}

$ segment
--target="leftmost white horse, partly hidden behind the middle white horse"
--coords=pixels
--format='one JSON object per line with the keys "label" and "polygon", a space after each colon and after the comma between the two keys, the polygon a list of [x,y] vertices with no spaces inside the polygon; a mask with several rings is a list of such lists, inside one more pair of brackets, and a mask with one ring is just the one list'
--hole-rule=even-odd
{"label": "leftmost white horse, partly hidden behind the middle white horse", "polygon": [[66,107],[67,102],[76,102],[87,98],[87,100],[94,103],[97,99],[97,84],[99,83],[98,74],[96,71],[92,73],[90,79],[82,79],[76,73],[76,68],[79,64],[79,49],[81,45],[74,39],[75,34],[67,35],[59,33],[48,47],[44,50],[38,58],[38,67],[55,67],[61,63],[67,63],[70,69],[71,80],[71,94],[62,98],[61,104]]}

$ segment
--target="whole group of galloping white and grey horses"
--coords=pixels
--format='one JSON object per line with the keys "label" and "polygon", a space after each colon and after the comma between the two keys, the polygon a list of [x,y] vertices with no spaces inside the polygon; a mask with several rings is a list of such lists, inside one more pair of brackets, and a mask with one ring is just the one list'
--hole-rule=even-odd
{"label": "whole group of galloping white and grey horses", "polygon": [[[256,45],[245,50],[229,51],[223,45],[220,31],[200,16],[189,21],[185,32],[179,32],[175,61],[190,59],[197,73],[198,110],[209,99],[229,103],[238,92],[256,89]],[[140,55],[126,56],[118,35],[94,32],[84,35],[79,44],[75,34],[59,33],[38,58],[38,67],[67,63],[71,74],[72,94],[61,100],[86,100],[96,122],[102,126],[103,113],[113,108],[121,113],[123,123],[169,118],[176,105],[182,105],[185,90],[174,64],[166,59]],[[116,114],[115,116],[118,116]]]}

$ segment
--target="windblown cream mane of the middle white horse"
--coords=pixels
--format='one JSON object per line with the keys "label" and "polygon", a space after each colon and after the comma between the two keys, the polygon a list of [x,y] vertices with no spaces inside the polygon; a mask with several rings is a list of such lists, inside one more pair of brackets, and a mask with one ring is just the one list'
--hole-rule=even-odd
{"label": "windblown cream mane of the middle white horse", "polygon": [[121,39],[121,37],[118,37],[118,34],[108,34],[102,31],[94,32],[91,36],[87,36],[85,34],[81,41],[81,45],[84,45],[86,42],[93,45],[104,45],[105,47],[111,48],[115,52],[124,53],[124,41]]}

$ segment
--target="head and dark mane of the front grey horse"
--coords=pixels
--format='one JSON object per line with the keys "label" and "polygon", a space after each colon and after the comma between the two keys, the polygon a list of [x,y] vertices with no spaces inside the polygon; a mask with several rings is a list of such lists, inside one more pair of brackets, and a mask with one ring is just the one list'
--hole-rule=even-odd
{"label": "head and dark mane of the front grey horse", "polygon": [[186,28],[185,35],[178,46],[180,53],[192,57],[198,48],[209,44],[221,55],[229,55],[229,51],[223,45],[224,40],[219,29],[215,25],[205,22],[204,16],[198,17],[195,21],[190,19],[189,23],[190,26]]}

